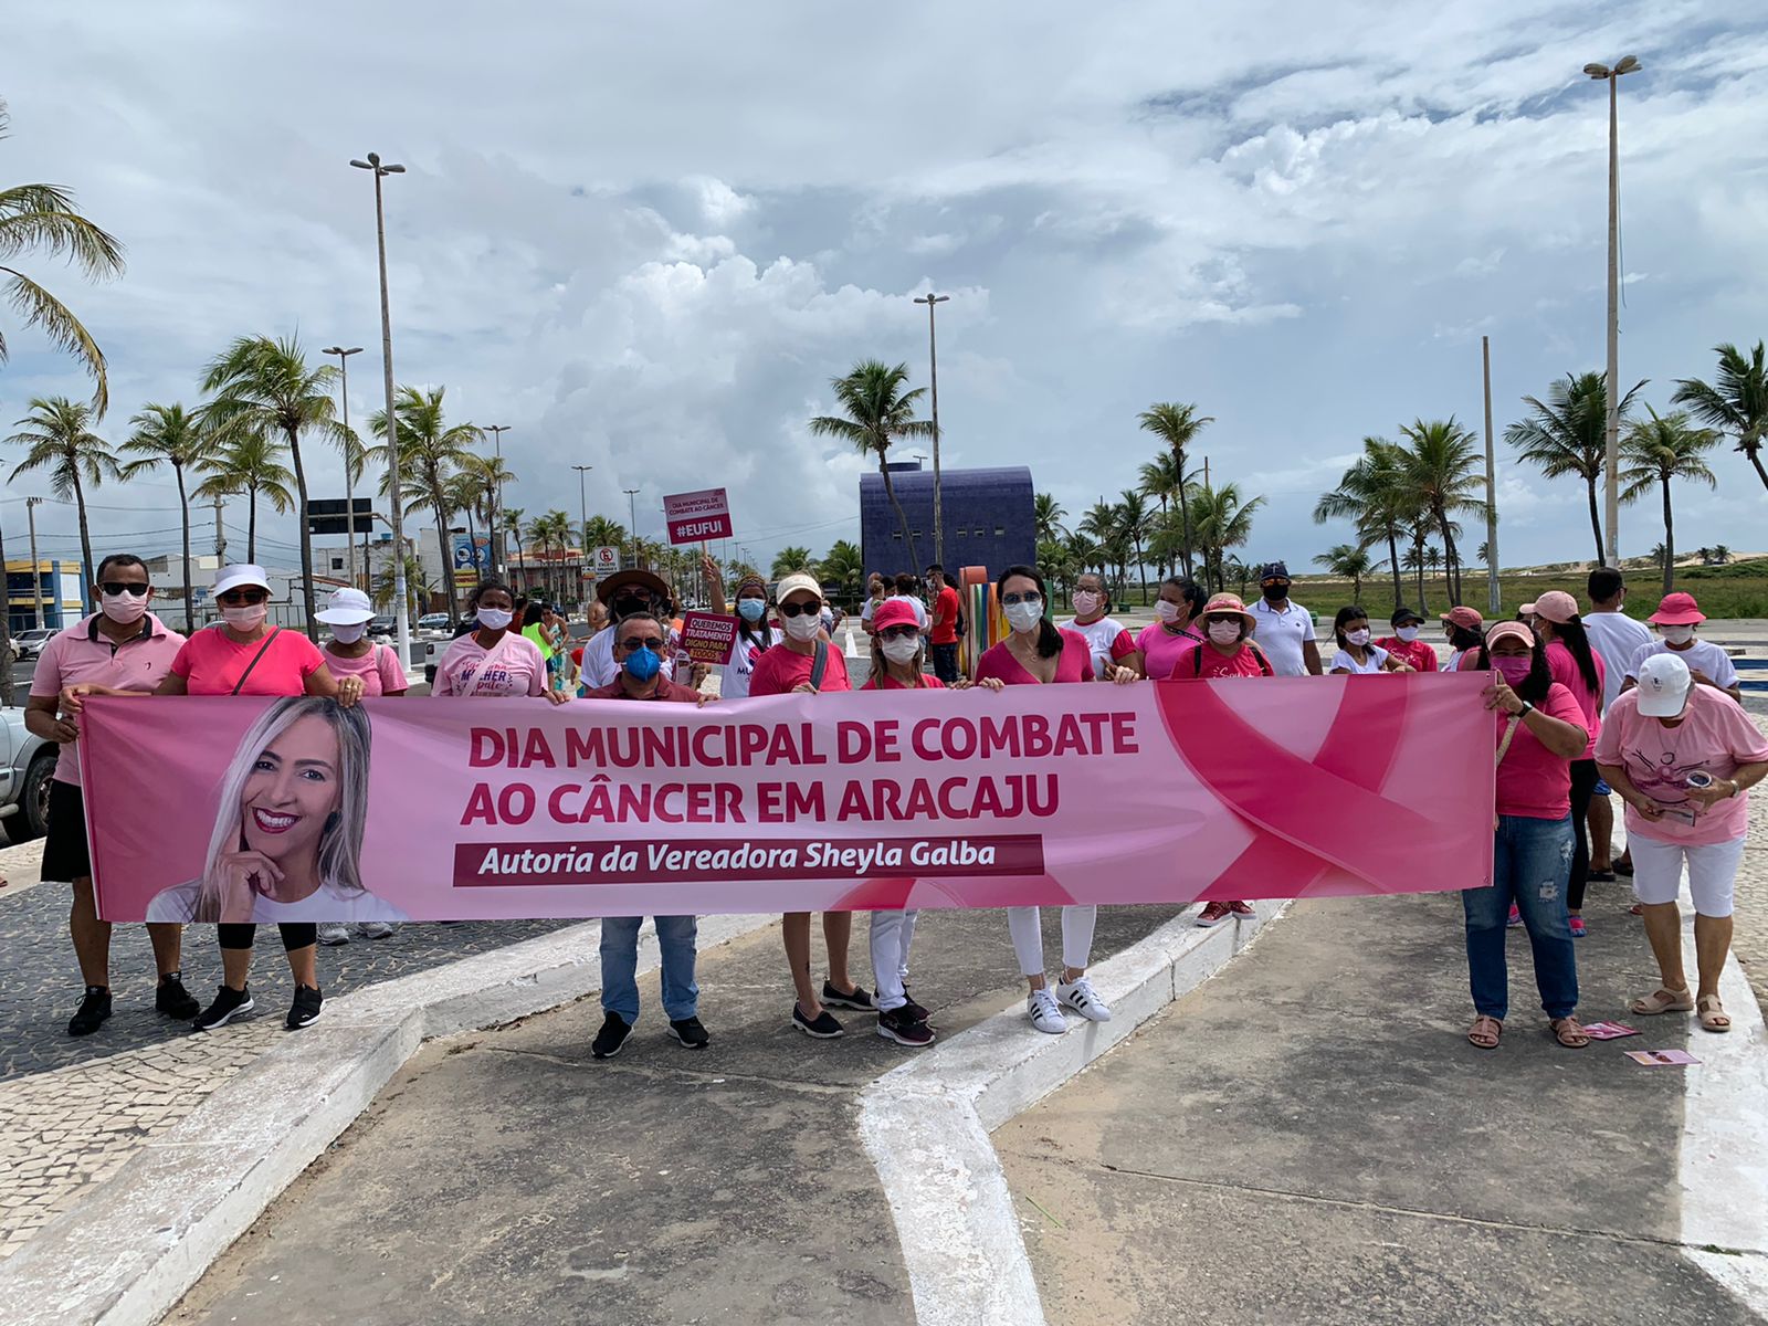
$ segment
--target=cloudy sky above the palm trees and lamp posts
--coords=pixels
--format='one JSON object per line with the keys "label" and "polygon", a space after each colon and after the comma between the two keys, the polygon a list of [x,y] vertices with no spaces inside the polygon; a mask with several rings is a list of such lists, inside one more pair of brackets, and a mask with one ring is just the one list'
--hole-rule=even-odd
{"label": "cloudy sky above the palm trees and lamp posts", "polygon": [[[370,347],[373,403],[348,166],[373,149],[408,168],[398,378],[511,426],[511,506],[575,516],[587,463],[591,513],[640,488],[645,534],[661,493],[723,483],[764,564],[857,537],[863,461],[804,423],[859,357],[925,382],[934,286],[948,465],[1027,463],[1078,513],[1133,484],[1140,408],[1195,401],[1211,476],[1268,500],[1250,557],[1299,566],[1345,536],[1310,511],[1365,435],[1480,423],[1482,334],[1499,430],[1602,366],[1607,117],[1579,69],[1623,53],[1621,373],[1664,408],[1711,345],[1768,334],[1768,11],[1743,0],[32,5],[0,179],[72,186],[129,248],[108,286],[34,269],[111,359],[117,437],[242,332]],[[4,423],[87,392],[5,327]],[[1499,456],[1505,560],[1584,555],[1581,486]],[[1681,543],[1768,545],[1745,460],[1713,467]],[[175,546],[170,479],[94,502],[103,548]],[[39,509],[46,548],[72,530]],[[267,530],[295,564],[293,522]],[[1623,514],[1625,553],[1660,536]]]}

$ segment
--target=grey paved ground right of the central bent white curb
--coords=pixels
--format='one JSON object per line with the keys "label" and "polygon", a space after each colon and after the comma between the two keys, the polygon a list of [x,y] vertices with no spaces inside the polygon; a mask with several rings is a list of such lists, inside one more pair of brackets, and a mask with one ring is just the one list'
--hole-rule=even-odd
{"label": "grey paved ground right of the central bent white curb", "polygon": [[1558,1048],[1519,930],[1482,1052],[1455,896],[1296,903],[995,1133],[1048,1321],[1756,1321],[1678,1246],[1681,1075],[1703,1070],[1623,1057],[1733,1047],[1630,1017],[1644,937],[1625,896],[1591,914],[1579,1011],[1644,1034]]}

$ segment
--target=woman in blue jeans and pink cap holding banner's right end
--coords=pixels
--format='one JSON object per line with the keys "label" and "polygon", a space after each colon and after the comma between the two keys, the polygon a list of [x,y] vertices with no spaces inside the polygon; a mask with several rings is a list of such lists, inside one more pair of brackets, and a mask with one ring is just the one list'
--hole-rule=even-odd
{"label": "woman in blue jeans and pink cap holding banner's right end", "polygon": [[1582,1050],[1589,1036],[1577,1010],[1577,956],[1565,889],[1572,866],[1572,771],[1589,743],[1584,714],[1547,672],[1547,649],[1522,622],[1499,622],[1485,636],[1496,711],[1497,817],[1492,882],[1466,889],[1467,985],[1475,1018],[1467,1040],[1496,1050],[1510,1011],[1505,928],[1512,903],[1522,912],[1535,953],[1535,985],[1559,1045]]}

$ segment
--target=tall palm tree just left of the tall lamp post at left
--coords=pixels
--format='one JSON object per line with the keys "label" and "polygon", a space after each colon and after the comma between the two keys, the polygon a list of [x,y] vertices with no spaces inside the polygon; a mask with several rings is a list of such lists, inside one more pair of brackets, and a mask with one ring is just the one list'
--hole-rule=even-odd
{"label": "tall palm tree just left of the tall lamp post at left", "polygon": [[301,601],[306,608],[308,638],[318,638],[313,617],[313,532],[308,529],[308,474],[301,463],[301,435],[320,433],[327,440],[345,438],[338,424],[338,407],[331,398],[338,370],[331,364],[308,368],[301,341],[293,336],[240,336],[209,364],[203,391],[214,400],[203,407],[205,424],[217,437],[281,437],[295,467],[297,520],[301,522]]}

